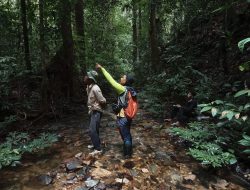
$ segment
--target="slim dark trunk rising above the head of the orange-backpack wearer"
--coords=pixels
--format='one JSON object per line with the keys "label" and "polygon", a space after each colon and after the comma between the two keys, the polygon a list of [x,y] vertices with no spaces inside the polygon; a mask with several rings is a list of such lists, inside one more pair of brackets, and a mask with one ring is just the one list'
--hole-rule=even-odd
{"label": "slim dark trunk rising above the head of the orange-backpack wearer", "polygon": [[137,31],[137,5],[136,0],[132,0],[132,28],[133,28],[133,63],[138,61],[138,31]]}

